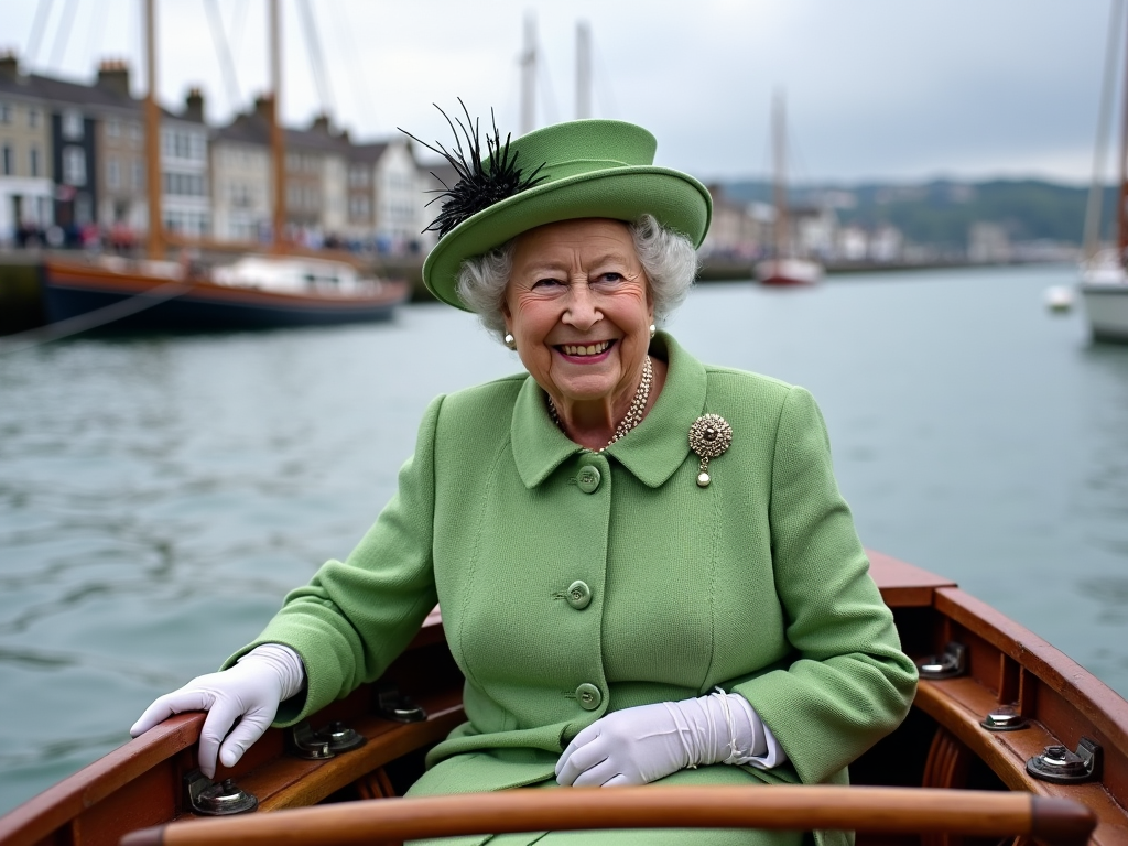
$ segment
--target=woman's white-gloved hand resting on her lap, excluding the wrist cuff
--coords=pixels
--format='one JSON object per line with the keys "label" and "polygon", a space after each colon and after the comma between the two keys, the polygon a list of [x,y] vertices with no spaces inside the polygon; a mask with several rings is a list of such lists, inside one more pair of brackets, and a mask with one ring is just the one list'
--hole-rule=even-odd
{"label": "woman's white-gloved hand resting on her lap, excluding the wrist cuff", "polygon": [[575,735],[556,763],[556,781],[564,786],[646,784],[690,764],[690,729],[678,707],[660,702],[615,711]]}

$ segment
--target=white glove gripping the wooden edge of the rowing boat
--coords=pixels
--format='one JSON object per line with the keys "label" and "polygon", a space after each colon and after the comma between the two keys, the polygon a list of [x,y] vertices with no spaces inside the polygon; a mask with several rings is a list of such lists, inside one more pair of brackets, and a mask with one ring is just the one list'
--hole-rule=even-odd
{"label": "white glove gripping the wooden edge of the rowing boat", "polygon": [[134,738],[143,734],[183,711],[206,711],[199,763],[203,774],[214,778],[217,752],[224,767],[238,764],[270,726],[279,703],[301,690],[305,682],[306,668],[297,652],[277,643],[263,644],[240,658],[235,667],[200,676],[179,690],[161,696],[146,708],[130,734]]}

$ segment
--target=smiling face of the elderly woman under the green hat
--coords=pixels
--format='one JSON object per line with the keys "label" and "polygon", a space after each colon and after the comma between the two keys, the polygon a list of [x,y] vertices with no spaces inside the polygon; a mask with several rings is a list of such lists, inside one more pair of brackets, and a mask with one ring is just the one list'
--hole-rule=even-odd
{"label": "smiling face of the elderly woman under the green hat", "polygon": [[654,308],[625,223],[565,220],[519,236],[502,311],[521,362],[565,420],[576,404],[626,413]]}

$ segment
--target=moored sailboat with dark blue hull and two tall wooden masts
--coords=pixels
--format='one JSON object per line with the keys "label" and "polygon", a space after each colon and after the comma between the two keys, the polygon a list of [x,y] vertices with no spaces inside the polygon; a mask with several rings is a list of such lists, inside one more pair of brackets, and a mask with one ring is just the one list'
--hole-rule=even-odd
{"label": "moored sailboat with dark blue hull and two tall wooden masts", "polygon": [[[405,281],[368,279],[347,261],[300,255],[283,241],[285,151],[279,123],[281,88],[279,0],[271,0],[271,147],[274,180],[273,250],[208,268],[192,254],[203,243],[174,238],[161,219],[160,109],[156,100],[155,0],[146,0],[148,92],[149,259],[95,256],[49,258],[41,270],[51,327],[82,331],[106,324],[125,329],[241,329],[355,323],[387,318],[411,296]],[[180,261],[166,261],[169,246]],[[68,332],[70,334],[70,332]]]}

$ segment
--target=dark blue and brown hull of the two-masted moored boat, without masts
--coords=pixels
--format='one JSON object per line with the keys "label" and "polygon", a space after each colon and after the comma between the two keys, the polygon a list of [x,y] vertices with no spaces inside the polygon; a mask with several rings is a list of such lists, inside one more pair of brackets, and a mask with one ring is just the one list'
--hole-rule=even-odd
{"label": "dark blue and brown hull of the two-masted moored boat, without masts", "polygon": [[390,317],[404,281],[361,279],[345,262],[252,256],[197,272],[176,262],[47,259],[41,291],[49,324],[123,329],[246,329]]}

